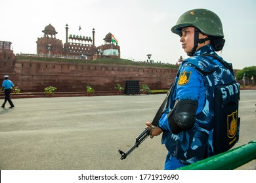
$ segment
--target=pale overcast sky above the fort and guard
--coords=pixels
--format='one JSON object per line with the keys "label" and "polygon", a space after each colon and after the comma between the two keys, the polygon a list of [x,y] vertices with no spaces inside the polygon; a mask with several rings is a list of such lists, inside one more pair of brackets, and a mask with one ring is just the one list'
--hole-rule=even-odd
{"label": "pale overcast sky above the fort and guard", "polygon": [[66,42],[68,24],[68,35],[93,37],[95,28],[96,46],[112,33],[121,58],[144,61],[152,54],[154,61],[173,64],[187,56],[171,27],[183,12],[207,8],[223,22],[226,43],[218,54],[234,69],[256,65],[254,0],[0,0],[0,5],[0,41],[11,41],[15,54],[36,54],[37,38],[49,24],[58,32],[56,38]]}

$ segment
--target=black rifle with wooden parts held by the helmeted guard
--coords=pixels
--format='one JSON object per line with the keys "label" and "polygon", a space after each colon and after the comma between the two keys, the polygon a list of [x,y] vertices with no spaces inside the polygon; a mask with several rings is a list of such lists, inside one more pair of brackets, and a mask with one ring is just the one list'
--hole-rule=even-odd
{"label": "black rifle with wooden parts held by the helmeted guard", "polygon": [[[173,88],[173,85],[171,85],[171,88]],[[152,121],[152,125],[154,125],[154,126],[158,125],[158,122],[161,118],[161,114],[163,113],[163,110],[165,109],[165,105],[167,103],[169,93],[171,93],[171,88],[170,88],[169,92],[167,92],[167,95],[166,95],[163,103],[161,104],[160,108],[158,109],[158,112],[156,112],[156,116],[154,117],[154,119]],[[129,150],[127,150],[127,152],[118,150],[118,152],[121,154],[121,160],[125,159],[131,152],[133,152],[133,150],[135,150],[135,148],[139,147],[139,144],[141,144],[149,135],[150,135],[150,130],[148,129],[148,127],[146,127],[144,129],[144,131],[142,131],[142,133],[140,133],[140,135],[138,135],[138,137],[136,137],[135,144]]]}

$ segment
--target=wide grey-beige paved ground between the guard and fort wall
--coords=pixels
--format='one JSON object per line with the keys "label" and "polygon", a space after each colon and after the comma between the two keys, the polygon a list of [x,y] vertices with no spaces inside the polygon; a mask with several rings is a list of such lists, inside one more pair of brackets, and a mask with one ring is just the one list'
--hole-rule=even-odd
{"label": "wide grey-beige paved ground between the guard and fort wall", "polygon": [[[256,90],[242,90],[240,141],[256,140]],[[165,98],[159,95],[12,99],[0,109],[1,170],[161,170],[161,137],[146,139],[126,159],[135,138]],[[1,100],[3,102],[3,100]],[[238,169],[255,170],[256,160]]]}

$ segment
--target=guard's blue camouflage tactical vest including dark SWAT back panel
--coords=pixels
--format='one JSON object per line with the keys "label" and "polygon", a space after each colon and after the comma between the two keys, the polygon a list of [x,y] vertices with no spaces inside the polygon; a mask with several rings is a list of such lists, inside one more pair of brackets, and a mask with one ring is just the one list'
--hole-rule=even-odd
{"label": "guard's blue camouflage tactical vest including dark SWAT back panel", "polygon": [[[209,57],[217,59],[224,67]],[[196,115],[196,125],[209,131],[208,148],[213,154],[219,154],[238,142],[240,84],[234,80],[230,63],[211,54],[195,58],[185,64],[196,69],[205,83],[205,105],[202,112]]]}

